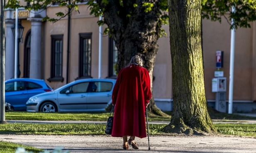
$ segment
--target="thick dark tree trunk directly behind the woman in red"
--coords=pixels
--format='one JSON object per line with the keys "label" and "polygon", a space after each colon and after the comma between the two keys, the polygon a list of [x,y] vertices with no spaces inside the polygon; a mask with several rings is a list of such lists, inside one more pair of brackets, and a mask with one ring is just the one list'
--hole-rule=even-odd
{"label": "thick dark tree trunk directly behind the woman in red", "polygon": [[[145,12],[142,4],[144,0],[137,0],[137,7],[132,1],[109,0],[103,3],[98,0],[103,11],[104,22],[110,30],[112,38],[118,49],[117,72],[127,67],[132,56],[139,55],[144,60],[144,67],[149,71],[151,77],[151,92],[153,92],[153,68],[158,51],[157,40],[160,36],[161,24],[159,21],[161,12],[158,0],[150,12]],[[127,16],[129,14],[129,16]],[[155,105],[151,98],[149,111],[154,114],[164,115]]]}

